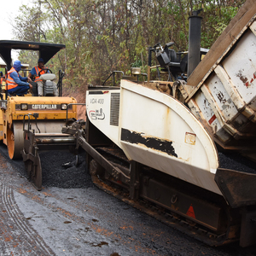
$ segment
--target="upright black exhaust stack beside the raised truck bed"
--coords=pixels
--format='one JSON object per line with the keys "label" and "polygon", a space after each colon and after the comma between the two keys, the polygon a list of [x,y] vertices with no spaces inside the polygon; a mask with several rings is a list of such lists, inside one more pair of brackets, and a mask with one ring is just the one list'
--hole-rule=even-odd
{"label": "upright black exhaust stack beside the raised truck bed", "polygon": [[201,13],[202,9],[192,12],[189,17],[189,60],[188,60],[188,77],[199,64],[201,58]]}

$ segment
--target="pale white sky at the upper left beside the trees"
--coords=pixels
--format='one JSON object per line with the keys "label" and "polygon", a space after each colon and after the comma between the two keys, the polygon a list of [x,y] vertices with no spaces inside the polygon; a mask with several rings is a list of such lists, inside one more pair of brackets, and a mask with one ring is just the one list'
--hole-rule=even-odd
{"label": "pale white sky at the upper left beside the trees", "polygon": [[[0,40],[13,40],[13,26],[15,17],[20,15],[19,8],[22,4],[32,5],[32,0],[1,0],[1,14],[0,14]],[[12,52],[12,58],[16,59],[17,55]],[[0,60],[1,61],[1,60]],[[2,61],[1,61],[2,62]]]}

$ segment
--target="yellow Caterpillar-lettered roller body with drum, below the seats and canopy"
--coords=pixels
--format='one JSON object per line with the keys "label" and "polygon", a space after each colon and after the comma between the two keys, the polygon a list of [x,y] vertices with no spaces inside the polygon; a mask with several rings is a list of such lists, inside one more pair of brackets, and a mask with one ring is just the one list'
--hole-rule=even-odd
{"label": "yellow Caterpillar-lettered roller body with drum, below the seats and canopy", "polygon": [[[21,157],[24,119],[30,119],[31,129],[60,133],[66,119],[77,119],[77,106],[67,107],[68,104],[75,103],[77,102],[73,97],[46,96],[8,96],[6,101],[1,101],[0,140],[7,145],[10,159]],[[34,113],[37,114],[36,118]]]}

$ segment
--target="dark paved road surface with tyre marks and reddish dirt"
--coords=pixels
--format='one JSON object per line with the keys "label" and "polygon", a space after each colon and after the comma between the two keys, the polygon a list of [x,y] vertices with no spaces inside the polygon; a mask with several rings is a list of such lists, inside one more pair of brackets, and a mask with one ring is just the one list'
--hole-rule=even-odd
{"label": "dark paved road surface with tyre marks and reddish dirt", "polygon": [[64,162],[73,155],[41,154],[42,191],[26,180],[22,161],[0,147],[0,255],[255,255],[256,247],[207,247],[97,189]]}

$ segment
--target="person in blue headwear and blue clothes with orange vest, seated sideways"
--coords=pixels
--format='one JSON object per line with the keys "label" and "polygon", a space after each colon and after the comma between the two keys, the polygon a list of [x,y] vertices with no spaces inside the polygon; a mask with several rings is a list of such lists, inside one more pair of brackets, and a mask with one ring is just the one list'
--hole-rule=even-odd
{"label": "person in blue headwear and blue clothes with orange vest, seated sideways", "polygon": [[6,82],[8,84],[8,92],[9,94],[15,94],[17,96],[23,96],[27,94],[27,90],[32,89],[32,84],[27,82],[31,82],[30,78],[23,78],[20,76],[19,71],[21,69],[20,61],[15,61],[14,66],[9,70],[8,77]]}

